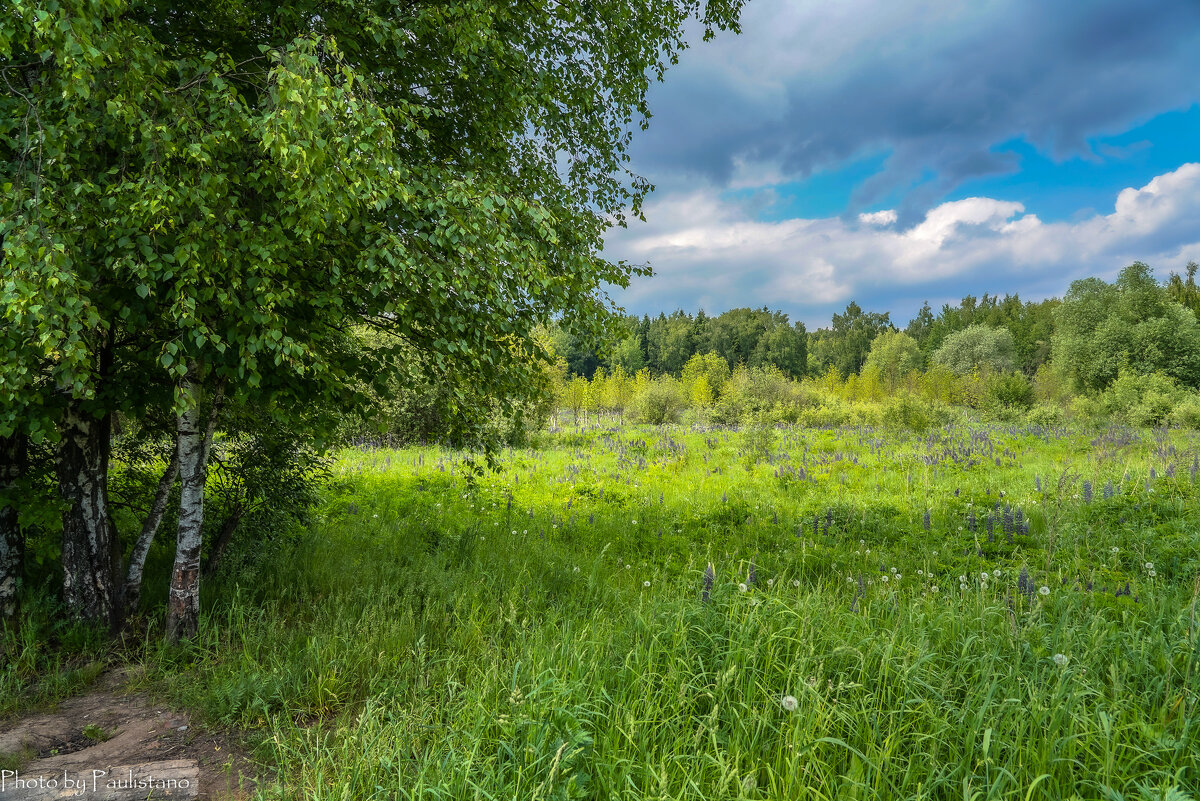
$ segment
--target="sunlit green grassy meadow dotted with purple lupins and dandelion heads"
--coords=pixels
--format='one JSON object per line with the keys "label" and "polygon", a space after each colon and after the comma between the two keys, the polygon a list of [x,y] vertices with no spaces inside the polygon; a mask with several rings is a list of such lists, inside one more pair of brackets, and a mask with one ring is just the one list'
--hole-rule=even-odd
{"label": "sunlit green grassy meadow dotted with purple lupins and dandelion heads", "polygon": [[558,428],[476,477],[348,450],[150,675],[262,731],[288,797],[1182,801],[1198,453],[970,421]]}

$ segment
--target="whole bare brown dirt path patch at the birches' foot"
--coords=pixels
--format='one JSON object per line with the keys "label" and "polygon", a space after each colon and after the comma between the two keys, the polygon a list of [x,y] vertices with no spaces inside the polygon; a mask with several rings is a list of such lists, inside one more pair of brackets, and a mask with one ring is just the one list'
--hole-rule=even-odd
{"label": "whole bare brown dirt path patch at the birches' foot", "polygon": [[49,711],[0,723],[0,801],[253,796],[263,771],[233,737],[122,691],[125,682],[109,673]]}

